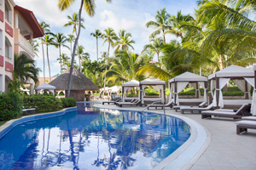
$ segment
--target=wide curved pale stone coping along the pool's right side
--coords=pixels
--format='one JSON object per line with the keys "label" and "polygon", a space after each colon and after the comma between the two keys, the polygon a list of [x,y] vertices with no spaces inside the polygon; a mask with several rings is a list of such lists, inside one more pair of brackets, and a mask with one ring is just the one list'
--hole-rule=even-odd
{"label": "wide curved pale stone coping along the pool's right side", "polygon": [[[141,111],[137,108],[109,108],[104,105],[93,105],[93,107],[99,109],[112,109],[119,111]],[[163,112],[160,111],[145,111],[145,112],[154,112],[161,115],[164,115]],[[189,117],[185,116],[177,116],[171,113],[166,113],[166,116],[174,116],[182,119],[184,122],[189,124],[191,127],[191,134],[189,139],[182,144],[177,150],[175,150],[170,156],[167,156],[166,159],[161,161],[157,166],[153,168],[153,170],[179,170],[179,169],[189,169],[197,161],[200,156],[207,150],[207,147],[211,143],[212,133],[202,126],[200,123],[195,122]]]}

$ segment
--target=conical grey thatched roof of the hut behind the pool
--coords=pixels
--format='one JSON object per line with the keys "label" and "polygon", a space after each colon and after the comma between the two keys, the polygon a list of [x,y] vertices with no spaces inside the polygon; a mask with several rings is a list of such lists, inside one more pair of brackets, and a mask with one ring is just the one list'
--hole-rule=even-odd
{"label": "conical grey thatched roof of the hut behind the pool", "polygon": [[[55,86],[56,90],[67,90],[68,80],[69,80],[70,68],[62,72],[59,77],[55,80],[49,82],[50,85]],[[85,77],[76,68],[73,68],[73,77],[71,82],[71,90],[99,90],[94,82],[92,82],[88,77]]]}

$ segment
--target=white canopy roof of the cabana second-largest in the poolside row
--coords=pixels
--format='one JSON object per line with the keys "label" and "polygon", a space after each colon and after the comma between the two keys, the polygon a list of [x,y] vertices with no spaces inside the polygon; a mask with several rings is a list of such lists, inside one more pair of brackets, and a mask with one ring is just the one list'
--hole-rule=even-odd
{"label": "white canopy roof of the cabana second-largest in the poolside row", "polygon": [[169,82],[207,82],[207,77],[201,77],[191,72],[184,72],[183,74],[172,78]]}

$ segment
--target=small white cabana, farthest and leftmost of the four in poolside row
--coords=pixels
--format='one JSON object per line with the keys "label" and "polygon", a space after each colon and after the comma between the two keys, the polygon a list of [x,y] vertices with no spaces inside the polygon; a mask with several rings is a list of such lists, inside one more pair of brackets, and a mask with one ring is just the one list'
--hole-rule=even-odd
{"label": "small white cabana, farthest and leftmost of the four in poolside row", "polygon": [[131,99],[140,99],[139,93],[137,96],[129,97],[128,93],[135,91],[137,92],[137,89],[140,87],[140,82],[137,80],[131,80],[130,82],[125,82],[122,84],[122,101],[125,102],[125,100],[131,100]]}

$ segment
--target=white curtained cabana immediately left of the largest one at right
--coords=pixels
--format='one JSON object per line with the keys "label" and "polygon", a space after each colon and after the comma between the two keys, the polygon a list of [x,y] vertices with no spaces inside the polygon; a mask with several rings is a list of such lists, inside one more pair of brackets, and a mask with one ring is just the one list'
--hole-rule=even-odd
{"label": "white curtained cabana immediately left of the largest one at right", "polygon": [[169,80],[169,85],[170,85],[169,101],[172,100],[172,96],[173,96],[172,92],[174,91],[174,103],[176,105],[179,105],[178,93],[180,93],[183,90],[183,88],[186,88],[186,86],[189,83],[193,88],[195,88],[195,98],[200,97],[199,86],[201,86],[201,88],[204,88],[203,99],[204,101],[207,101],[207,77],[201,77],[199,75],[196,75],[188,71]]}

